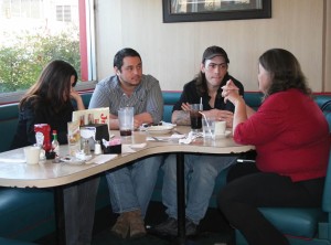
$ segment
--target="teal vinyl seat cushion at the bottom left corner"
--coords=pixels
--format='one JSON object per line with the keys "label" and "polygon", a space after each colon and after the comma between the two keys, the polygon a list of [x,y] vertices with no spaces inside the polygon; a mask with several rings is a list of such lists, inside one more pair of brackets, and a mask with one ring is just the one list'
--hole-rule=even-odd
{"label": "teal vinyl seat cushion at the bottom left corner", "polygon": [[[50,189],[0,189],[0,236],[35,241],[55,228]],[[1,244],[1,243],[0,243]]]}

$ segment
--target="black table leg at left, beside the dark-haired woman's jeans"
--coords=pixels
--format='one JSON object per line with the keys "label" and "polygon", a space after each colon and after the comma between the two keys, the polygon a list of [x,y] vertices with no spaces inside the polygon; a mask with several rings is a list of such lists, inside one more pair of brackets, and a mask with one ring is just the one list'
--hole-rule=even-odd
{"label": "black table leg at left, beside the dark-haired woman's jeans", "polygon": [[54,209],[56,225],[56,244],[65,245],[65,220],[64,220],[64,198],[63,187],[54,188]]}

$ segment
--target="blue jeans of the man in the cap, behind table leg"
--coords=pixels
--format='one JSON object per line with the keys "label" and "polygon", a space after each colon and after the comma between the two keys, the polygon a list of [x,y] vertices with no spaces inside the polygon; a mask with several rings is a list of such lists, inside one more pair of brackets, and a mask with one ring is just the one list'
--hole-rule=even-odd
{"label": "blue jeans of the man in the cap, behind table leg", "polygon": [[[235,162],[237,157],[215,155],[184,155],[186,217],[199,224],[204,217],[212,196],[215,179],[218,173]],[[177,219],[177,159],[168,155],[162,170],[164,171],[162,202],[167,214]]]}

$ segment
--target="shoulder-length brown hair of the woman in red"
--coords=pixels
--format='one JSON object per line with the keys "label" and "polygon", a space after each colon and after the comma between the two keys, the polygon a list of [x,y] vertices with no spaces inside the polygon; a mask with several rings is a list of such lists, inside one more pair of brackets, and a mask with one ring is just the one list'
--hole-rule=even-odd
{"label": "shoulder-length brown hair of the woman in red", "polygon": [[290,88],[297,88],[311,96],[311,89],[308,87],[301,66],[292,53],[282,49],[273,49],[260,55],[258,61],[271,77],[271,84],[264,99],[271,94]]}

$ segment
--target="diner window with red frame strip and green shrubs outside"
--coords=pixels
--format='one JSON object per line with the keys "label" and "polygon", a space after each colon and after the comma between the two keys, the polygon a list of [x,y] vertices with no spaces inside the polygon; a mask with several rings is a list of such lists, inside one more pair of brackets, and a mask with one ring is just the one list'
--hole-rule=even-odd
{"label": "diner window with red frame strip and green shrubs outside", "polygon": [[18,102],[55,58],[76,68],[78,90],[93,89],[94,0],[0,0],[0,105]]}

